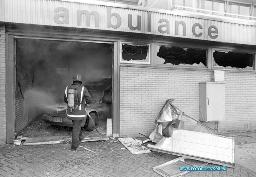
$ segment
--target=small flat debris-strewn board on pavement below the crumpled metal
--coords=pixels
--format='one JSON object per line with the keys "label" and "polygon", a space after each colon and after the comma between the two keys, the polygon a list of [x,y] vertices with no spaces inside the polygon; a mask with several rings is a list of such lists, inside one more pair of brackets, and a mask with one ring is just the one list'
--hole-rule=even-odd
{"label": "small flat debris-strewn board on pavement below the crumpled metal", "polygon": [[132,154],[143,154],[143,153],[149,153],[150,150],[146,148],[145,146],[141,145],[137,141],[135,141],[133,138],[118,138],[120,143],[126,147]]}

